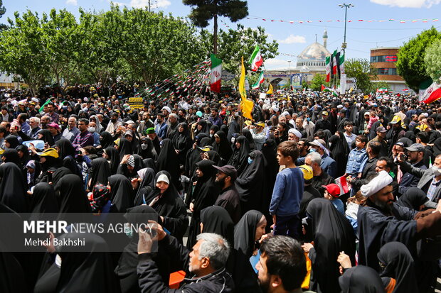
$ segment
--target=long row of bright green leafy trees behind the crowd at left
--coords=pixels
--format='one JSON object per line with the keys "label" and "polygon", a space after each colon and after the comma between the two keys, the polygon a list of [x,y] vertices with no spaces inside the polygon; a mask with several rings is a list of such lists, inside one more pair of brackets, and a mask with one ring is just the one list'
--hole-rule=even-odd
{"label": "long row of bright green leafy trees behind the crowd at left", "polygon": [[142,80],[152,84],[208,57],[196,28],[181,18],[145,9],[94,13],[26,11],[0,33],[0,70],[18,74],[35,92],[58,82]]}

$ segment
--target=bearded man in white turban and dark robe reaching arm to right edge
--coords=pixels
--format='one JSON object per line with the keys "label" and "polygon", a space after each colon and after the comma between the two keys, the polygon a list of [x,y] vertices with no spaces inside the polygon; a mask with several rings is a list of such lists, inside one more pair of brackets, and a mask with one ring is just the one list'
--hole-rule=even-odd
{"label": "bearded man in white turban and dark robe reaching arm to right edge", "polygon": [[358,264],[380,271],[377,253],[386,243],[398,241],[406,245],[418,267],[420,292],[429,292],[437,280],[437,260],[423,261],[419,258],[417,242],[424,238],[441,235],[441,204],[437,209],[418,212],[395,203],[392,194],[392,177],[386,171],[368,178],[358,192],[367,197],[360,206],[358,221]]}

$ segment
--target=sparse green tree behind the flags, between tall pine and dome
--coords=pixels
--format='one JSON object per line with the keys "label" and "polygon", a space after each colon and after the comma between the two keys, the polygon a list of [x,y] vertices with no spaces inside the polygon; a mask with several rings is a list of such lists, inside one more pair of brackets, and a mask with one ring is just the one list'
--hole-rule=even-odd
{"label": "sparse green tree behind the flags, between tall pine and dome", "polygon": [[[210,43],[213,35],[207,31],[201,33],[202,43]],[[248,62],[255,45],[259,45],[260,53],[264,60],[268,60],[277,56],[279,44],[272,40],[268,40],[268,35],[265,33],[265,28],[257,26],[257,29],[245,28],[238,24],[238,27],[233,30],[219,31],[219,50],[218,57],[222,59],[223,68],[231,73],[239,74],[240,61],[243,57],[245,70],[250,70],[250,63]],[[206,48],[208,50],[208,48]],[[208,51],[209,52],[209,51]]]}

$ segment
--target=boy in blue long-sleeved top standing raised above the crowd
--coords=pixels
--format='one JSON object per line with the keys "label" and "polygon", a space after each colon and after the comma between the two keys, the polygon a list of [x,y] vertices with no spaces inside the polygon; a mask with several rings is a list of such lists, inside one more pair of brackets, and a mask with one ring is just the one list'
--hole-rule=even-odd
{"label": "boy in blue long-sleeved top standing raised above the crowd", "polygon": [[284,141],[277,148],[277,161],[286,168],[277,174],[271,197],[270,214],[275,235],[299,238],[304,178],[302,170],[294,164],[298,156],[299,148],[294,141]]}

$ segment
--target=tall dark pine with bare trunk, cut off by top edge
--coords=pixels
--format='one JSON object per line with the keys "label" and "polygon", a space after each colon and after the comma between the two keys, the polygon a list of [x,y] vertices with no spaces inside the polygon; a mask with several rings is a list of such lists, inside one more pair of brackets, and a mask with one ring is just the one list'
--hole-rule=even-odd
{"label": "tall dark pine with bare trunk, cut off by top edge", "polygon": [[248,16],[247,1],[240,0],[183,0],[185,5],[191,6],[189,15],[191,21],[200,27],[206,28],[208,21],[213,19],[213,53],[218,54],[218,16],[230,18],[236,22]]}

